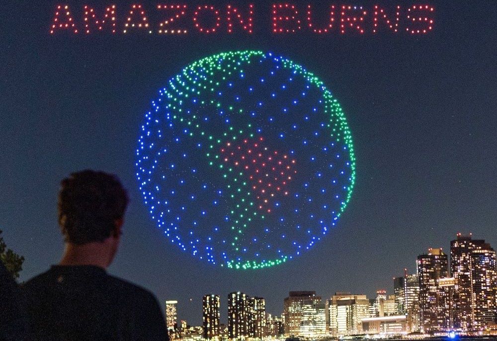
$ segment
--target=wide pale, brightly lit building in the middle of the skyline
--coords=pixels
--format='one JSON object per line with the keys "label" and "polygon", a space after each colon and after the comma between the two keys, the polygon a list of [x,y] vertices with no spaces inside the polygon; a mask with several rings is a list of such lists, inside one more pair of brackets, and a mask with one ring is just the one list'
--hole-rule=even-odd
{"label": "wide pale, brightly lit building in the middle of the skyline", "polygon": [[366,295],[337,292],[331,296],[330,333],[344,336],[362,333],[362,319],[369,318],[369,300]]}

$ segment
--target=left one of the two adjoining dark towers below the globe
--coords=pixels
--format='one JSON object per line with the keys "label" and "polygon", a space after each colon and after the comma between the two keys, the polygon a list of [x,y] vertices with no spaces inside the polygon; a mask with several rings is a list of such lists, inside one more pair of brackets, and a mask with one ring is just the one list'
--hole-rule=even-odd
{"label": "left one of the two adjoining dark towers below the globe", "polygon": [[245,339],[250,328],[250,298],[243,292],[228,295],[228,334],[230,339]]}

